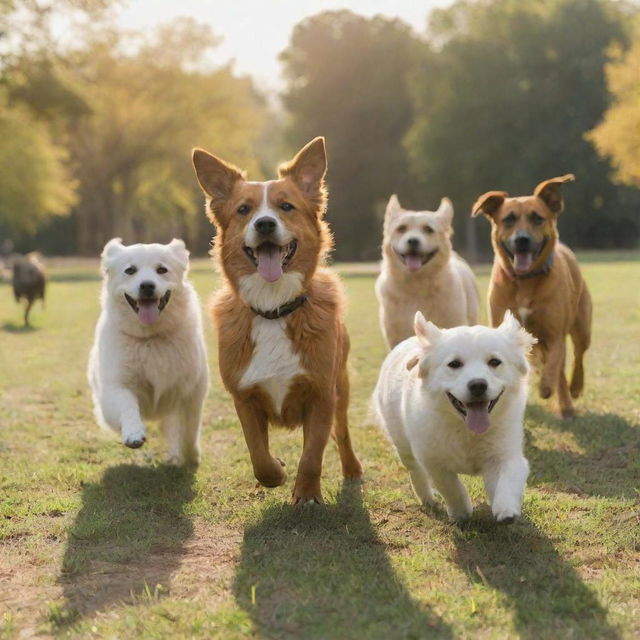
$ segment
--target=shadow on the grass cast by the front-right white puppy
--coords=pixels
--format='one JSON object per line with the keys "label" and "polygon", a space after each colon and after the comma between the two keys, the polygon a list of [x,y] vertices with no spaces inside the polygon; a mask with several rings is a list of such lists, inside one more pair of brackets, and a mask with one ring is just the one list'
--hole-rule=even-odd
{"label": "shadow on the grass cast by the front-right white puppy", "polygon": [[471,582],[506,596],[518,637],[620,637],[595,593],[526,518],[500,525],[486,507],[452,530],[455,561]]}

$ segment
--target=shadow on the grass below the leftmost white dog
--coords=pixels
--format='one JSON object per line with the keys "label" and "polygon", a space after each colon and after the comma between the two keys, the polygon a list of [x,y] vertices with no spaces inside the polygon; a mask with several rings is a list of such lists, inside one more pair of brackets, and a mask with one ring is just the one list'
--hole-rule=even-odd
{"label": "shadow on the grass below the leftmost white dog", "polygon": [[54,624],[162,595],[193,535],[185,515],[193,481],[190,469],[123,464],[83,486],[59,577],[64,603],[51,612]]}

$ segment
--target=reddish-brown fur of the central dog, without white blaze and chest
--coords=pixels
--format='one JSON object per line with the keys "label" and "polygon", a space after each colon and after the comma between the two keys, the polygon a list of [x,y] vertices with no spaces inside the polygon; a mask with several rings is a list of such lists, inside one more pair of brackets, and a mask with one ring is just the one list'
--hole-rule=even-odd
{"label": "reddish-brown fur of the central dog, without white blaze and chest", "polygon": [[287,271],[303,274],[302,292],[307,296],[304,305],[286,316],[286,334],[304,373],[292,381],[280,412],[260,385],[240,387],[254,354],[251,331],[256,314],[240,297],[239,283],[256,268],[242,250],[250,216],[236,212],[241,204],[258,206],[265,183],[247,182],[241,171],[199,149],[194,151],[193,160],[207,196],[207,213],[217,229],[214,255],[224,276],[212,307],[220,372],[233,396],[255,476],[268,487],[284,483],[283,465],[269,451],[268,424],[289,428],[302,425],[304,446],[293,502],[320,502],[322,458],[330,434],[337,441],[344,476],[362,475],[347,425],[349,338],[343,323],[342,287],[331,271],[318,266],[331,247],[323,220],[324,139],[309,143],[291,162],[280,167],[278,180],[267,183],[270,206],[277,208],[283,201],[295,206],[295,215],[288,215],[285,224],[297,239],[298,248]]}

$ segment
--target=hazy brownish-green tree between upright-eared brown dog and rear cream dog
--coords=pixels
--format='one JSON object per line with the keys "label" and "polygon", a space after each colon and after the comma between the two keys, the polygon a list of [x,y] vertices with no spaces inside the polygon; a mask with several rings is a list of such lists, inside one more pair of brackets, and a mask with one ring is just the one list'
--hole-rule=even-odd
{"label": "hazy brownish-green tree between upright-eared brown dog and rear cream dog", "polygon": [[281,54],[291,150],[327,138],[328,219],[339,259],[378,257],[384,204],[394,192],[406,201],[414,195],[402,139],[416,47],[399,20],[328,11],[300,22]]}

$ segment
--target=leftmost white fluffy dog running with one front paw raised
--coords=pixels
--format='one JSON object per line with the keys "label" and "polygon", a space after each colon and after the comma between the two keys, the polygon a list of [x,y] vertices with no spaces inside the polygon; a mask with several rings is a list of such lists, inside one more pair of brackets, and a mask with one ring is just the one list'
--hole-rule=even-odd
{"label": "leftmost white fluffy dog running with one front paw raised", "polygon": [[102,313],[88,372],[100,426],[135,449],[146,439],[143,419],[159,419],[167,461],[178,465],[199,461],[208,386],[200,306],[188,268],[182,240],[107,243]]}

